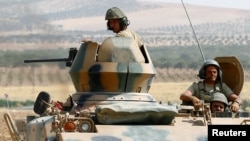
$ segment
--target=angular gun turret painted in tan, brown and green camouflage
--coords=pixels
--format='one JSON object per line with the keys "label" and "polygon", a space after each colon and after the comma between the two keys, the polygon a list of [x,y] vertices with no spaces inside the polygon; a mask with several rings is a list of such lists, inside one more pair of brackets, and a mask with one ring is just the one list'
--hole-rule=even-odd
{"label": "angular gun turret painted in tan, brown and green camouflage", "polygon": [[156,75],[149,58],[131,38],[113,37],[83,43],[69,74],[77,92],[148,92]]}

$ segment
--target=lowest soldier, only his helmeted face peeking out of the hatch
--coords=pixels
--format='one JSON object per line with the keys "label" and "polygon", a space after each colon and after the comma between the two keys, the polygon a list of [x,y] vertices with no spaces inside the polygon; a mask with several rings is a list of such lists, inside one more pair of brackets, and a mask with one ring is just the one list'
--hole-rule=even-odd
{"label": "lowest soldier, only his helmeted face peeking out of the hatch", "polygon": [[211,97],[210,109],[211,112],[225,112],[228,106],[228,101],[223,93],[216,92]]}

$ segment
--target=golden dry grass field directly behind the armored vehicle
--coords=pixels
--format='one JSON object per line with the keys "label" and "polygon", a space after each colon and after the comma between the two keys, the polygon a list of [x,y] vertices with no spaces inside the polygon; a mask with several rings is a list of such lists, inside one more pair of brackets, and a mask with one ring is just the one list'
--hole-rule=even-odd
{"label": "golden dry grass field directly behind the armored vehicle", "polygon": [[[180,103],[179,95],[189,86],[192,82],[155,82],[153,83],[149,93],[152,94],[156,100],[164,103],[174,102]],[[68,85],[50,85],[50,86],[20,86],[20,87],[1,87],[1,94],[9,95],[9,100],[25,101],[36,100],[40,91],[47,91],[51,94],[52,99],[64,101],[66,98],[74,93],[74,87]],[[245,82],[241,91],[242,99],[250,100],[250,82]]]}

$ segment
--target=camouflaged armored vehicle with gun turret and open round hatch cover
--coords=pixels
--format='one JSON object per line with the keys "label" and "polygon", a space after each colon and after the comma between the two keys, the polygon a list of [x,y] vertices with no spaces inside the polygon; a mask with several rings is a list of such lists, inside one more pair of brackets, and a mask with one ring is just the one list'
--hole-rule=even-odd
{"label": "camouflaged armored vehicle with gun turret and open round hatch cover", "polygon": [[[244,73],[238,59],[215,59],[225,82],[240,94]],[[110,37],[101,45],[83,42],[79,49],[70,49],[68,58],[25,63],[50,61],[66,62],[75,93],[63,94],[70,96],[58,102],[46,90],[40,92],[33,109],[37,116],[28,116],[22,124],[6,113],[13,141],[203,141],[208,125],[249,120],[244,112],[212,114],[206,103],[197,110],[156,101],[149,93],[156,76],[150,55],[129,37]]]}

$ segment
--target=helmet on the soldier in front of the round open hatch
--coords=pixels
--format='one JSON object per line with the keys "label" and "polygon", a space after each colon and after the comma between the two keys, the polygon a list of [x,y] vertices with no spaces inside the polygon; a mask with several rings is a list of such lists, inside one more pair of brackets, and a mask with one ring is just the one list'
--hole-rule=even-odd
{"label": "helmet on the soldier in front of the round open hatch", "polygon": [[217,73],[218,73],[216,80],[222,81],[222,72],[221,72],[221,69],[220,69],[220,65],[219,65],[219,63],[217,61],[212,60],[212,59],[204,61],[201,69],[199,70],[199,74],[198,74],[200,79],[206,79],[206,68],[207,68],[207,66],[215,66],[216,69],[217,69]]}

